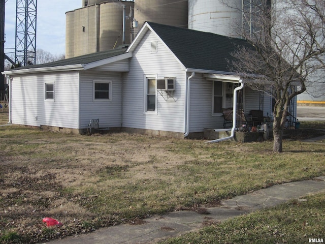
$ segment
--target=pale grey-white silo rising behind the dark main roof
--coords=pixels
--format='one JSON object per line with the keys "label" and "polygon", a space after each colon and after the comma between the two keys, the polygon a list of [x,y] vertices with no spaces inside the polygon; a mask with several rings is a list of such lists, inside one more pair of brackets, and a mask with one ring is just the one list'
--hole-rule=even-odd
{"label": "pale grey-white silo rising behind the dark main roof", "polygon": [[218,0],[189,0],[188,28],[223,36],[239,37],[242,0],[227,1],[227,6]]}

